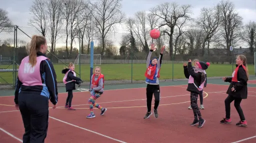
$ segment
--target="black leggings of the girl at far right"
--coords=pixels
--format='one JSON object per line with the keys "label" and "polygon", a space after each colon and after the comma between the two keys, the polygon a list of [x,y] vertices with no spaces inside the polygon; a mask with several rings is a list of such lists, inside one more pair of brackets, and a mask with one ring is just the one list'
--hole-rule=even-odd
{"label": "black leggings of the girl at far right", "polygon": [[233,96],[228,95],[225,99],[225,110],[226,110],[226,118],[230,118],[230,103],[234,100],[234,107],[237,110],[240,120],[245,120],[245,117],[242,112],[242,108],[240,106],[240,103],[242,101],[242,98],[236,98]]}

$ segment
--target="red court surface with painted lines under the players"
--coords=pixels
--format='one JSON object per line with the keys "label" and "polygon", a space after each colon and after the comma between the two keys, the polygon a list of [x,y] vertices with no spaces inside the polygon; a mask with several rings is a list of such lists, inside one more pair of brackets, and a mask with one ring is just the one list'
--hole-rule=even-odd
{"label": "red court surface with painted lines under the players", "polygon": [[[227,87],[207,84],[204,88],[205,109],[201,114],[206,122],[202,128],[189,125],[193,121],[193,112],[187,109],[190,93],[186,91],[186,85],[160,86],[159,116],[155,118],[152,114],[148,119],[143,119],[145,88],[105,90],[96,102],[107,111],[101,116],[100,110],[94,108],[95,118],[86,118],[89,92],[74,92],[72,104],[76,110],[63,108],[67,93],[59,93],[58,108],[52,109],[49,103],[45,142],[256,142],[256,87],[248,87],[248,98],[241,102],[247,127],[235,125],[240,119],[233,102],[232,123],[219,123],[225,114]],[[152,106],[153,103],[152,100]],[[22,142],[23,132],[20,112],[13,106],[13,96],[1,96],[0,142]]]}

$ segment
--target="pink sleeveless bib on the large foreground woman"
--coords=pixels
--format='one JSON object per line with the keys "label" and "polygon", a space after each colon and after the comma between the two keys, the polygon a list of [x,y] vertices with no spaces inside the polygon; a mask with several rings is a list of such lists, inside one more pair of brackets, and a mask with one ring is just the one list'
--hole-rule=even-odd
{"label": "pink sleeveless bib on the large foreground woman", "polygon": [[45,56],[37,56],[36,64],[32,67],[29,61],[29,56],[26,56],[22,59],[19,69],[18,69],[18,78],[23,85],[34,86],[34,85],[43,85],[40,75],[40,63],[42,60],[47,59]]}

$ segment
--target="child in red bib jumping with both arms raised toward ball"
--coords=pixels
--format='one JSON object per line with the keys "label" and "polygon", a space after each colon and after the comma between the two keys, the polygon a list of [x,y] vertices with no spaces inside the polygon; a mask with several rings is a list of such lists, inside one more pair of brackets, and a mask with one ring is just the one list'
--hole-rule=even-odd
{"label": "child in red bib jumping with both arms raised toward ball", "polygon": [[161,67],[161,60],[162,60],[162,53],[164,51],[165,46],[162,46],[160,50],[159,59],[157,57],[153,57],[150,60],[152,52],[155,50],[155,45],[152,43],[151,48],[149,50],[149,53],[147,55],[146,59],[146,71],[144,73],[146,77],[146,106],[147,106],[147,112],[144,116],[144,118],[148,118],[152,112],[151,112],[151,101],[154,94],[154,117],[158,117],[157,113],[157,107],[159,105],[160,101],[160,87],[159,87],[159,80],[160,77],[160,67]]}

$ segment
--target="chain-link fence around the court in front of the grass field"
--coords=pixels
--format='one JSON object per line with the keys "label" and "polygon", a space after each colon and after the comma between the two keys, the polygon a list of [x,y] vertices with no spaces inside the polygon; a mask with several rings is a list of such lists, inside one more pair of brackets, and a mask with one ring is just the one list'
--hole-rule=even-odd
{"label": "chain-link fence around the court in front of the grass field", "polygon": [[[18,65],[22,58],[27,56],[28,44],[33,34],[42,35],[42,32],[34,27],[19,27],[16,25],[0,25],[0,85],[1,87],[13,87],[16,82]],[[76,65],[75,71],[89,84],[90,80],[90,41],[91,36],[82,35],[82,31],[75,36],[66,36],[65,32],[52,35],[46,32],[48,51],[46,55],[54,64],[58,85],[62,83],[61,70],[67,67],[69,62]],[[109,32],[104,40],[100,35],[93,35],[93,66],[100,66],[105,75],[105,84],[138,83],[144,82],[146,58],[150,44],[144,44],[139,38],[130,38],[129,33]],[[254,56],[248,48],[234,48],[229,51],[225,48],[201,48],[188,51],[187,49],[173,46],[171,48],[165,38],[148,40],[147,43],[156,43],[157,49],[152,56],[159,56],[160,46],[165,45],[160,70],[160,81],[183,79],[183,62],[188,59],[199,59],[210,62],[206,70],[207,77],[219,77],[231,75],[235,68],[237,54],[245,54],[249,73],[254,74]],[[171,50],[170,50],[170,48]],[[185,51],[187,50],[187,51]],[[173,51],[173,56],[171,53]],[[202,54],[203,53],[203,54]],[[229,54],[228,54],[229,53]],[[227,56],[229,55],[229,56]],[[173,60],[172,60],[173,59]],[[8,69],[8,72],[6,72]],[[4,72],[3,72],[4,71]],[[4,86],[5,85],[5,86]]]}

